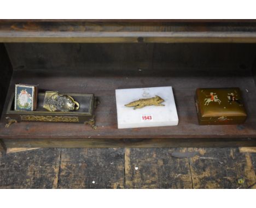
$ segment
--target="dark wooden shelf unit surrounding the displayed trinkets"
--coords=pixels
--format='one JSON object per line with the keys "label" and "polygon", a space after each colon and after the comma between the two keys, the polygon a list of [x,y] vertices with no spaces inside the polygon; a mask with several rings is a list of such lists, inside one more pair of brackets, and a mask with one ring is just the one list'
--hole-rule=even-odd
{"label": "dark wooden shelf unit surrounding the displayed trinkets", "polygon": [[[0,43],[0,142],[7,148],[256,145],[255,20],[0,20]],[[5,128],[15,83],[39,84],[41,92],[94,93],[101,101],[98,129]],[[115,89],[170,85],[178,126],[117,129]],[[195,90],[207,87],[240,87],[246,123],[198,125]]]}

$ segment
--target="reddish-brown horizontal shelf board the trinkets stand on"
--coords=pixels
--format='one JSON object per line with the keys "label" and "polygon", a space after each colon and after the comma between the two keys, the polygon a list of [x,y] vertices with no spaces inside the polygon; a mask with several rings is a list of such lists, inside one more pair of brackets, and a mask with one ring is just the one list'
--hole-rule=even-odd
{"label": "reddish-brown horizontal shelf board the trinkets stand on", "polygon": [[[221,70],[220,70],[221,71]],[[137,72],[139,73],[139,72]],[[146,73],[146,72],[145,72]],[[123,71],[125,74],[125,71]],[[128,74],[128,72],[127,72]],[[184,75],[184,74],[183,74]],[[194,76],[175,76],[159,74],[129,76],[96,74],[86,72],[66,72],[53,70],[18,70],[14,71],[5,108],[14,91],[15,83],[39,84],[41,90],[59,90],[63,93],[94,93],[101,103],[96,109],[97,130],[83,124],[57,123],[18,123],[9,128],[4,127],[4,118],[0,124],[0,138],[3,139],[221,139],[221,138],[256,138],[256,87],[251,72],[240,70],[236,76],[215,76],[211,71],[194,71]],[[171,85],[176,99],[179,124],[169,127],[152,127],[141,129],[117,129],[117,111],[115,89],[137,87],[160,87]],[[194,104],[196,88],[200,87],[240,87],[246,103],[248,119],[244,125],[200,126]]]}

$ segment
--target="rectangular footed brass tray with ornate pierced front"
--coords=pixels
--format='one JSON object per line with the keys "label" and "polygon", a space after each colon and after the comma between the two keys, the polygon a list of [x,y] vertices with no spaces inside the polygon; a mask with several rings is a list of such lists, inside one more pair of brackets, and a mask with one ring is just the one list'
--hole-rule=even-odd
{"label": "rectangular footed brass tray with ornate pierced front", "polygon": [[72,96],[75,101],[80,104],[77,111],[71,112],[50,112],[43,108],[44,93],[38,94],[38,105],[36,111],[14,111],[14,94],[5,113],[5,118],[8,123],[5,127],[9,127],[12,123],[17,122],[49,122],[49,123],[73,123],[73,124],[88,124],[93,129],[95,126],[94,111],[97,105],[97,100],[94,94],[66,94]]}

